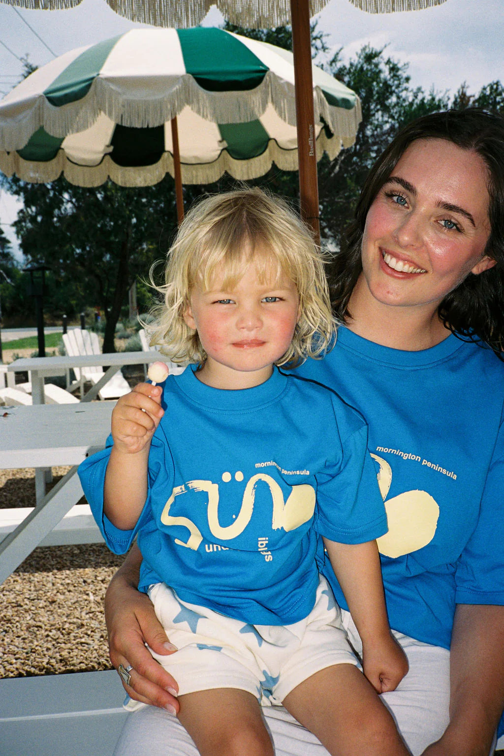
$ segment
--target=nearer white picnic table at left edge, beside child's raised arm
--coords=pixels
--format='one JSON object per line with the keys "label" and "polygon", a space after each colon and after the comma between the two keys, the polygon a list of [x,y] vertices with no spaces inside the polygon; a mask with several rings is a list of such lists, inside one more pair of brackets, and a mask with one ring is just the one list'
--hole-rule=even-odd
{"label": "nearer white picnic table at left edge, beside child's raised arm", "polygon": [[[73,465],[0,543],[0,584],[82,497],[77,465],[104,447],[115,404],[94,401],[0,408],[0,469]],[[91,514],[86,513],[85,519],[89,522]]]}

